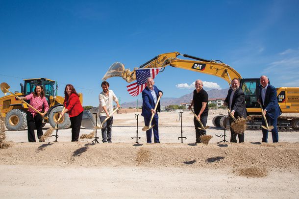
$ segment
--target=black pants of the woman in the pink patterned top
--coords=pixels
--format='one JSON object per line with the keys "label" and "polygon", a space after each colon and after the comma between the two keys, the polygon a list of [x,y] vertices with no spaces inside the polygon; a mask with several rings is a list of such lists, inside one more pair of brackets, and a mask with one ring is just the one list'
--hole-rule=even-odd
{"label": "black pants of the woman in the pink patterned top", "polygon": [[27,111],[27,130],[28,130],[28,142],[36,142],[34,135],[34,127],[37,130],[37,138],[39,139],[43,135],[42,122],[43,118],[40,114],[33,115]]}

